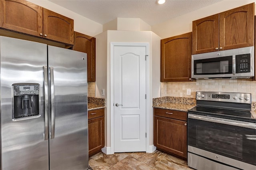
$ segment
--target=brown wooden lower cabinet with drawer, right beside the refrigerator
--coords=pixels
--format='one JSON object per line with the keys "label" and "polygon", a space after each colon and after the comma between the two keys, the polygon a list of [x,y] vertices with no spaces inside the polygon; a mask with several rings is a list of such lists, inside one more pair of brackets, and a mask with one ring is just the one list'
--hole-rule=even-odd
{"label": "brown wooden lower cabinet with drawer, right beside the refrigerator", "polygon": [[105,109],[88,111],[89,156],[101,151],[105,146]]}

